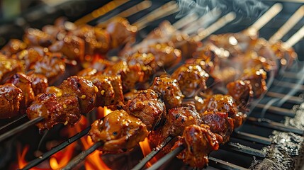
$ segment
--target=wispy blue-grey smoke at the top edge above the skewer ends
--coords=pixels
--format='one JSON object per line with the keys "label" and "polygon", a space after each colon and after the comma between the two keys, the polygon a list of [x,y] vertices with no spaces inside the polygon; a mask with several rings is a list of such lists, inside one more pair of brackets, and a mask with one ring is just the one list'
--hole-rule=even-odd
{"label": "wispy blue-grey smoke at the top edge above the skewer ends", "polygon": [[238,16],[257,18],[266,11],[261,0],[179,0],[180,11],[176,18],[186,16],[188,13],[197,13],[203,16],[213,8],[228,13],[234,11]]}

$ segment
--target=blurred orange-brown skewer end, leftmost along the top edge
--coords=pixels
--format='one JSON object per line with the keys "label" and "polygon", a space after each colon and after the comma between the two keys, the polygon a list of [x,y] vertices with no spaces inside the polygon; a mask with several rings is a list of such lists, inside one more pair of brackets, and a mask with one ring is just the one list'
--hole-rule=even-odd
{"label": "blurred orange-brown skewer end, leftmost along the top edge", "polygon": [[111,1],[108,4],[101,6],[101,8],[98,8],[95,11],[87,14],[86,16],[79,18],[77,21],[74,22],[74,24],[76,26],[81,26],[82,24],[92,21],[94,18],[103,16],[105,13],[108,13],[108,11],[112,11],[114,8],[117,8],[117,7],[127,3],[128,1],[130,1],[130,0]]}

